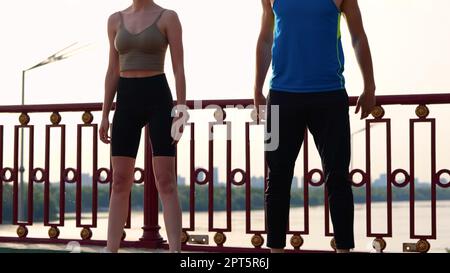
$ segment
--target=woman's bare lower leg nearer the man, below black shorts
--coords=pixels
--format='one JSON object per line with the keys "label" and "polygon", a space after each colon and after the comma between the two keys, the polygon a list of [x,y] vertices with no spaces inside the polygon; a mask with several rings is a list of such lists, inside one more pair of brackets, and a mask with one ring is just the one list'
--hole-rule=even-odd
{"label": "woman's bare lower leg nearer the man, below black shorts", "polygon": [[153,169],[156,187],[163,205],[169,250],[181,251],[181,207],[178,199],[175,157],[155,156]]}

